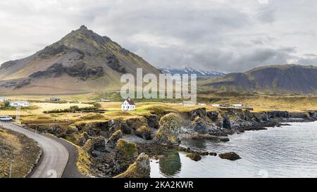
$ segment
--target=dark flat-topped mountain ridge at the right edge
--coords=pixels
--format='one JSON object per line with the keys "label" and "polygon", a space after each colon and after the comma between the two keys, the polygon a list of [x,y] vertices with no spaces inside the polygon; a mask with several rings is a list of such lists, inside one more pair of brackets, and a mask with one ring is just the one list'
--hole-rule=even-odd
{"label": "dark flat-topped mountain ridge at the right edge", "polygon": [[317,93],[317,67],[312,65],[268,65],[237,72],[204,84],[221,91],[270,91]]}

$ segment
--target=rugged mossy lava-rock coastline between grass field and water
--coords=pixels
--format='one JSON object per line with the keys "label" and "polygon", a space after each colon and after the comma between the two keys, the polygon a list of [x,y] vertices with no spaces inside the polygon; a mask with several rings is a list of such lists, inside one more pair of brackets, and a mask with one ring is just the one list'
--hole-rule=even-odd
{"label": "rugged mossy lava-rock coastline between grass field and water", "polygon": [[[71,124],[68,127],[37,126],[36,129],[68,139],[83,148],[91,157],[90,172],[94,177],[149,177],[149,158],[162,158],[170,150],[188,153],[192,160],[200,160],[202,155],[218,155],[213,151],[184,148],[181,146],[182,139],[227,142],[231,134],[278,127],[286,122],[315,120],[317,111],[313,110],[290,113],[280,110],[254,112],[240,108],[196,108],[179,113],[154,110],[151,115],[125,120],[118,118]],[[232,152],[219,156],[228,160],[240,158]]]}

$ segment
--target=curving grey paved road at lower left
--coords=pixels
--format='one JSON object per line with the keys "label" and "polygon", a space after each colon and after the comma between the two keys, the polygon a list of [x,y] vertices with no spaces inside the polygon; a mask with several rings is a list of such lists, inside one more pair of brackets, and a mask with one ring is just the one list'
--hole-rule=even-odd
{"label": "curving grey paved road at lower left", "polygon": [[25,134],[27,137],[30,137],[30,139],[37,141],[42,148],[42,158],[30,177],[61,178],[69,156],[67,149],[61,143],[43,134],[37,134],[28,129],[24,129],[16,124],[0,122],[0,125],[5,129],[11,129],[15,132]]}

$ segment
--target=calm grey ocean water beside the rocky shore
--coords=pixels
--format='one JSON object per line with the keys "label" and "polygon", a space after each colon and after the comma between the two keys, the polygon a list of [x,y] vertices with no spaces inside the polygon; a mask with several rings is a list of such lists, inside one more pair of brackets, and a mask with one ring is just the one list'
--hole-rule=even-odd
{"label": "calm grey ocean water beside the rocky shore", "polygon": [[230,136],[228,143],[182,141],[197,151],[235,152],[241,160],[202,157],[194,162],[185,153],[170,153],[151,162],[151,177],[317,177],[317,122],[290,123]]}

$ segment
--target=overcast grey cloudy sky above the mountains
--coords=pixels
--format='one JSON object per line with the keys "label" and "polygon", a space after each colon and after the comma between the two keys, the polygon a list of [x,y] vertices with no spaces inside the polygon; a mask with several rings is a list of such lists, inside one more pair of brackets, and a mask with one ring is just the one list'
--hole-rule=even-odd
{"label": "overcast grey cloudy sky above the mountains", "polygon": [[80,25],[160,68],[317,65],[316,0],[1,0],[0,63]]}

